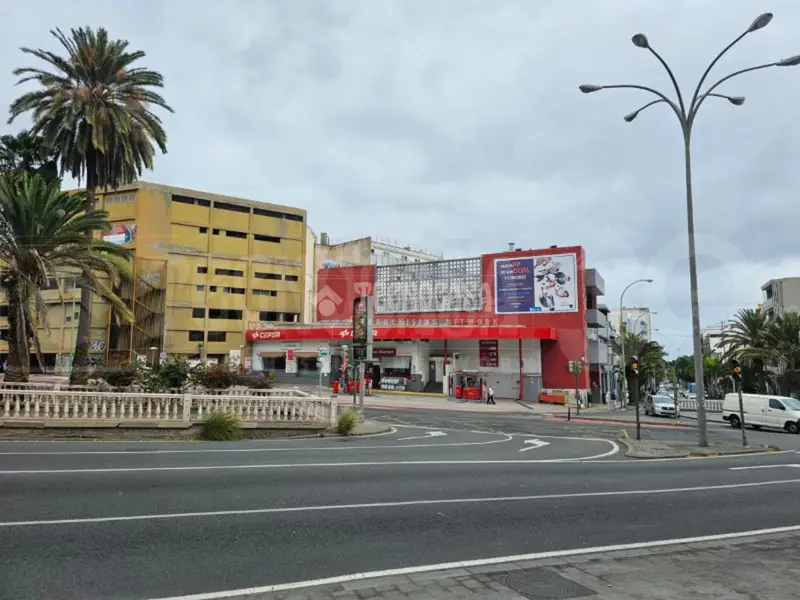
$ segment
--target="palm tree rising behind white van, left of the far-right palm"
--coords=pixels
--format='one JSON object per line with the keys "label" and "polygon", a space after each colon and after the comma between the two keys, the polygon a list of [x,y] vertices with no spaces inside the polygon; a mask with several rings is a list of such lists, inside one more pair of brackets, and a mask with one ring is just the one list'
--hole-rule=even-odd
{"label": "palm tree rising behind white van, left of the far-right palm", "polygon": [[727,348],[723,360],[736,359],[752,367],[761,392],[766,391],[764,367],[770,358],[769,331],[770,319],[766,313],[743,308],[724,328],[720,343]]}

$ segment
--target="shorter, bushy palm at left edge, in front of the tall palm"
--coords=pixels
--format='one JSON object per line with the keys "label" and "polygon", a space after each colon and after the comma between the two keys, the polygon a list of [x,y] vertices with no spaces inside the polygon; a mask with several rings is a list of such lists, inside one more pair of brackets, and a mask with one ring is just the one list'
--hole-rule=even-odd
{"label": "shorter, bushy palm at left edge, in front of the tall palm", "polygon": [[121,277],[130,277],[130,252],[92,237],[108,229],[108,214],[87,213],[85,203],[86,193],[62,192],[57,180],[30,173],[0,176],[0,285],[8,297],[9,326],[6,381],[28,380],[30,343],[38,349],[37,325],[47,323],[41,290],[59,277],[72,274],[131,318],[112,292]]}

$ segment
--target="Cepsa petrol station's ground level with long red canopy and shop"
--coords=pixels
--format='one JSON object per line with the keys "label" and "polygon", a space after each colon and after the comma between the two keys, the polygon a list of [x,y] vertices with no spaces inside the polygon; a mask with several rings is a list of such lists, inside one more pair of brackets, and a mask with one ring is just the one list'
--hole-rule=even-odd
{"label": "Cepsa petrol station's ground level with long red canopy and shop", "polygon": [[[499,398],[537,398],[542,391],[542,340],[550,328],[534,327],[375,327],[373,389],[453,393],[466,379],[492,385]],[[352,376],[348,326],[293,326],[248,330],[254,371],[271,371],[280,380],[316,382]]]}

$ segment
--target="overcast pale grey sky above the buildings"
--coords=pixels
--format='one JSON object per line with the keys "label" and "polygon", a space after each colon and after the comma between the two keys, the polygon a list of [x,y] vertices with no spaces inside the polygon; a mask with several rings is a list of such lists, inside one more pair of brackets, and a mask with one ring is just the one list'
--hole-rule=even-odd
{"label": "overcast pale grey sky above the buildings", "polygon": [[[147,52],[175,109],[169,154],[143,179],[308,210],[319,234],[401,241],[448,257],[583,245],[605,302],[658,311],[671,354],[691,351],[686,202],[669,91],[637,32],[686,93],[708,61],[772,11],[718,77],[800,53],[797,0],[28,0],[0,8],[0,103],[20,46],[51,27],[105,26]],[[717,78],[718,78],[717,77]],[[691,90],[689,89],[691,88]],[[742,76],[707,102],[694,139],[703,326],[800,275],[800,67]],[[25,126],[0,125],[0,132]],[[660,338],[658,336],[661,336]]]}

